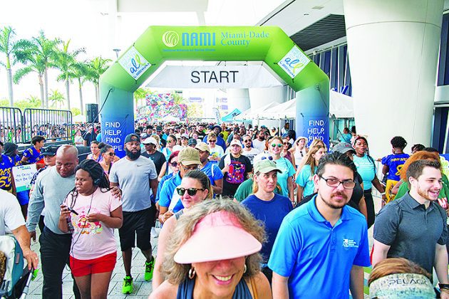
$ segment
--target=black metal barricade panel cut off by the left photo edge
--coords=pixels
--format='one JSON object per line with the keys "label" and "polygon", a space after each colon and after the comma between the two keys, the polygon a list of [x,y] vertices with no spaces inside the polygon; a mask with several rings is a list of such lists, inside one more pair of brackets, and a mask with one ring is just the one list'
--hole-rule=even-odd
{"label": "black metal barricade panel cut off by the left photo edge", "polygon": [[22,119],[22,112],[19,108],[0,107],[1,142],[24,142]]}

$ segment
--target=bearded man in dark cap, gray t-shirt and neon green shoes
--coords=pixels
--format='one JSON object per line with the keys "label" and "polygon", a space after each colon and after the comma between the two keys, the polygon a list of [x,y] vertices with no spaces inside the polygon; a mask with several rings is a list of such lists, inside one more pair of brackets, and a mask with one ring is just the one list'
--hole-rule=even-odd
{"label": "bearded man in dark cap, gray t-shirt and neon green shoes", "polygon": [[118,229],[123,266],[126,276],[123,279],[122,292],[133,293],[131,259],[137,235],[137,246],[146,258],[145,280],[153,278],[154,258],[152,255],[150,232],[155,219],[151,196],[158,189],[158,173],[153,160],[140,157],[140,138],[130,134],[125,137],[126,157],[118,160],[110,169],[110,186],[120,186],[123,191],[123,226]]}

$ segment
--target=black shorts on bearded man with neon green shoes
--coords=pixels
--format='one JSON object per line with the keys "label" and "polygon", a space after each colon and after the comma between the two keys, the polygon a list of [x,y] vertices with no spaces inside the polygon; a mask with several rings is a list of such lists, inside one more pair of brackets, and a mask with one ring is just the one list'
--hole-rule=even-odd
{"label": "black shorts on bearded man with neon green shoes", "polygon": [[121,250],[126,251],[135,247],[135,235],[137,235],[137,246],[140,250],[151,249],[150,239],[153,219],[155,219],[155,211],[151,208],[142,211],[124,211],[123,225],[118,229]]}

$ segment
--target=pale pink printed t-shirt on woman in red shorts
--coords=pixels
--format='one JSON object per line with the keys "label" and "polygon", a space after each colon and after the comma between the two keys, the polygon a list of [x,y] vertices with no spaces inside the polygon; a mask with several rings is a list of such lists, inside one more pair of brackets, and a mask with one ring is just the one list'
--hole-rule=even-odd
{"label": "pale pink printed t-shirt on woman in red shorts", "polygon": [[69,195],[64,199],[64,204],[73,205],[72,209],[78,212],[78,216],[71,213],[73,258],[90,260],[117,251],[114,229],[105,226],[101,221],[86,224],[86,216],[93,213],[110,216],[111,211],[122,205],[120,199],[113,196],[110,191],[103,193],[97,188],[96,192],[89,196],[78,194],[73,203],[72,196]]}

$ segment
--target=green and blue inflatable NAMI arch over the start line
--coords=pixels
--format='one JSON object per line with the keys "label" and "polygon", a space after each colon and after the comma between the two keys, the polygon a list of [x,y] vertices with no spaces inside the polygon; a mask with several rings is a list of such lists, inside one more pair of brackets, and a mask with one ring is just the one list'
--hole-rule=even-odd
{"label": "green and blue inflatable NAMI arch over the start line", "polygon": [[[264,61],[296,94],[296,132],[329,140],[329,78],[281,28],[150,26],[100,77],[103,142],[121,157],[133,93],[164,61]],[[314,125],[315,124],[315,125]]]}

